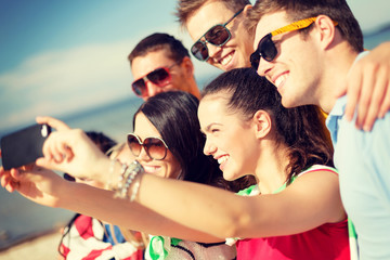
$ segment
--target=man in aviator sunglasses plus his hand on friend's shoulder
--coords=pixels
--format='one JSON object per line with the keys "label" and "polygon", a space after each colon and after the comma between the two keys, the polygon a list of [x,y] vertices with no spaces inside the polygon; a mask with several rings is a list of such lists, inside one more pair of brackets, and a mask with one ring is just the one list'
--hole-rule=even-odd
{"label": "man in aviator sunglasses plus his hand on friend's shoulder", "polygon": [[[250,9],[248,0],[179,0],[177,16],[194,40],[192,54],[197,60],[222,70],[249,67],[255,40],[255,31],[246,23]],[[384,52],[382,47],[377,49],[379,50],[375,51],[381,55],[373,53],[359,61],[359,68],[351,70],[344,88],[340,89],[339,93],[349,93],[349,117],[358,104],[363,104],[358,107],[356,126],[364,126],[365,129],[370,129],[377,116],[390,109],[390,87],[386,83],[390,80],[390,75],[382,74],[377,82],[373,77],[373,70],[377,67],[386,69],[390,66],[387,63],[390,61],[390,52]],[[366,75],[365,80],[363,74]],[[362,92],[366,94],[363,96],[360,94]]]}

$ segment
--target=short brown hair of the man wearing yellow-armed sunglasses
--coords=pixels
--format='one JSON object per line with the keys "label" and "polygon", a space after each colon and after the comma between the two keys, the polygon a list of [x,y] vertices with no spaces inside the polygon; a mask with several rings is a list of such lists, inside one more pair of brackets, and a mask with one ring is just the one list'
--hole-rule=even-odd
{"label": "short brown hair of the man wearing yellow-armed sunglasses", "polygon": [[290,22],[326,15],[338,23],[336,28],[355,52],[364,50],[362,29],[346,0],[257,0],[249,11],[249,29],[256,27],[263,15],[277,11],[285,11]]}

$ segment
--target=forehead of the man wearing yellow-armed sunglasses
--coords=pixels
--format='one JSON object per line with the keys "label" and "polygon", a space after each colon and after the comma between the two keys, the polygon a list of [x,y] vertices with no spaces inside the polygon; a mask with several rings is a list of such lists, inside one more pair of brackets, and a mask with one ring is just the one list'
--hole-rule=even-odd
{"label": "forehead of the man wearing yellow-armed sunglasses", "polygon": [[259,23],[256,26],[256,35],[253,41],[253,48],[257,49],[260,40],[271,31],[278,29],[285,25],[289,24],[287,21],[286,12],[274,12],[265,14],[261,17]]}

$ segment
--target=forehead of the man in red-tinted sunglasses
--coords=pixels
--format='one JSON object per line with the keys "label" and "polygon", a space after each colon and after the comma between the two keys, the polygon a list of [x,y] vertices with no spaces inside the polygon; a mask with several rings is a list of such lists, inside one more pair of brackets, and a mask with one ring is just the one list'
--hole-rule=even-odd
{"label": "forehead of the man in red-tinted sunglasses", "polygon": [[167,56],[162,50],[153,51],[144,56],[138,56],[132,61],[131,72],[134,79],[141,78],[158,67],[170,66],[174,61]]}

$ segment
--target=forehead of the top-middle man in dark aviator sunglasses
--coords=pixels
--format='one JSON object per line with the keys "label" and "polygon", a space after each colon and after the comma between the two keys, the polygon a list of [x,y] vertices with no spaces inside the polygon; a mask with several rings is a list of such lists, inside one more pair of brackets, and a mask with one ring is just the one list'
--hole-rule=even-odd
{"label": "forehead of the top-middle man in dark aviator sunglasses", "polygon": [[224,24],[234,15],[234,12],[225,6],[222,1],[207,1],[191,16],[185,24],[191,38],[199,39],[210,27]]}

